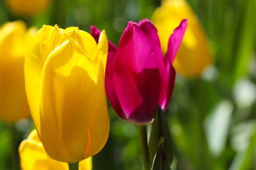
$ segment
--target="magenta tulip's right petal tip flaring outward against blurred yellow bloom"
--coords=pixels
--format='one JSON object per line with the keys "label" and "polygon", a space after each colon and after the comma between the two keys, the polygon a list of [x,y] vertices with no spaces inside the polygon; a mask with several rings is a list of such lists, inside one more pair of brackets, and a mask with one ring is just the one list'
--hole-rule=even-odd
{"label": "magenta tulip's right petal tip flaring outward against blurred yellow bloom", "polygon": [[176,53],[180,47],[180,43],[186,31],[187,24],[188,20],[182,20],[180,25],[174,29],[173,34],[169,38],[166,54],[170,58],[171,64],[173,64],[173,60],[175,59]]}

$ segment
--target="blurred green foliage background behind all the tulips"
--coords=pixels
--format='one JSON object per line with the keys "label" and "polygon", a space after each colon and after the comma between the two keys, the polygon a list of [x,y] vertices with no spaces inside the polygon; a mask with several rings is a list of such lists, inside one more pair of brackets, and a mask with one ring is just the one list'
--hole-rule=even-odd
{"label": "blurred green foliage background behind all the tulips", "polygon": [[[167,116],[174,140],[172,170],[256,169],[256,1],[188,0],[198,15],[214,53],[214,63],[200,77],[177,73]],[[160,0],[53,0],[34,18],[12,14],[0,0],[0,24],[24,20],[28,26],[90,25],[105,29],[118,45],[127,22],[151,18]],[[110,105],[109,105],[110,106]],[[137,126],[121,120],[112,107],[110,136],[93,170],[140,170]],[[31,120],[16,125],[17,141],[33,128]],[[150,126],[148,126],[150,128]],[[0,122],[0,170],[11,169],[10,126]]]}

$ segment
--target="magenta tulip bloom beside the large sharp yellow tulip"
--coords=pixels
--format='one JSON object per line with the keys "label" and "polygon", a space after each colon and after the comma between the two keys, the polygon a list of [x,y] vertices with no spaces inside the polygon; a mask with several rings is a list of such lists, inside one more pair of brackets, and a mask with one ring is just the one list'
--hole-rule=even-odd
{"label": "magenta tulip bloom beside the large sharp yellow tulip", "polygon": [[[149,20],[129,22],[118,48],[109,44],[105,86],[108,99],[122,119],[134,124],[152,121],[157,106],[166,111],[175,81],[172,61],[186,30],[183,20],[169,38],[162,57],[157,29]],[[99,30],[92,26],[97,39]]]}

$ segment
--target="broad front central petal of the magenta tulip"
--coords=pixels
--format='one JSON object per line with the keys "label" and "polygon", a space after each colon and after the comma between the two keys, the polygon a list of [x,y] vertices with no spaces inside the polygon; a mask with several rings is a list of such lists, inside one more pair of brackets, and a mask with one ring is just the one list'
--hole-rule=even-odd
{"label": "broad front central petal of the magenta tulip", "polygon": [[117,97],[126,117],[135,123],[148,123],[157,109],[161,88],[159,66],[163,65],[163,60],[154,48],[144,30],[130,22],[115,56]]}

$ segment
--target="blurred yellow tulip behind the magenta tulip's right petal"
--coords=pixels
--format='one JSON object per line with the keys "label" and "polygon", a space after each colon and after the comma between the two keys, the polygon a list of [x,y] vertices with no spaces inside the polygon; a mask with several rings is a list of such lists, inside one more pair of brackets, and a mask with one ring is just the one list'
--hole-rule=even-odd
{"label": "blurred yellow tulip behind the magenta tulip's right petal", "polygon": [[200,75],[212,63],[212,54],[207,36],[189,4],[185,0],[162,0],[162,5],[155,10],[152,20],[165,53],[168,38],[184,18],[188,19],[188,26],[173,66],[180,74],[193,77]]}

